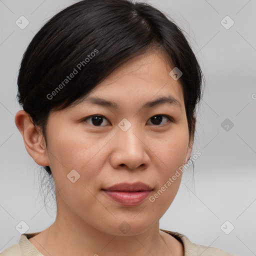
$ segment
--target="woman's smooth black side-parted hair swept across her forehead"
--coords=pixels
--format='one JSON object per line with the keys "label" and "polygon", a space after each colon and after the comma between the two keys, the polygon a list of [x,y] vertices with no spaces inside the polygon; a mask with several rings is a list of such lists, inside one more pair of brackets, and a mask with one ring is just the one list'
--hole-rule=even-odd
{"label": "woman's smooth black side-parted hair swept across her forehead", "polygon": [[[181,29],[143,2],[82,0],[54,15],[35,34],[23,55],[17,79],[18,102],[35,127],[41,128],[47,146],[45,128],[51,110],[79,103],[120,64],[155,47],[164,52],[172,68],[182,71],[179,81],[189,136],[194,136],[195,107],[203,80],[200,66]],[[74,68],[77,74],[65,85],[63,80]],[[56,90],[57,86],[61,89]],[[44,169],[51,174],[49,166]]]}

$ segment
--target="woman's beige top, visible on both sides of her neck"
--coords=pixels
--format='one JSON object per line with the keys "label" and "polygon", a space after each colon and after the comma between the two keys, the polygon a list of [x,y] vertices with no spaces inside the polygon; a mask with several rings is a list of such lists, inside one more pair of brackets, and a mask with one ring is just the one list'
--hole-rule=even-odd
{"label": "woman's beige top, visible on both sides of her neck", "polygon": [[[160,230],[172,235],[183,244],[185,252],[184,256],[234,256],[224,250],[215,247],[208,247],[192,243],[185,235],[181,233],[172,232],[161,228]],[[30,237],[33,237],[38,233],[39,232],[21,234],[19,242],[6,248],[0,253],[0,256],[43,256],[43,254],[41,254],[28,240]]]}

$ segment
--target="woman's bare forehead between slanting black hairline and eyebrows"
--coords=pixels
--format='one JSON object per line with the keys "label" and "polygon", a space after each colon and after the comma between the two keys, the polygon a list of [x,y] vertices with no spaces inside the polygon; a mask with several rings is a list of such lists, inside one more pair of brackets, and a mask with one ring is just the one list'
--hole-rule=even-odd
{"label": "woman's bare forehead between slanting black hairline and eyebrows", "polygon": [[162,51],[147,51],[118,66],[84,99],[99,96],[114,101],[116,98],[123,101],[131,97],[150,100],[154,97],[171,95],[182,104],[181,83],[169,75],[171,69]]}

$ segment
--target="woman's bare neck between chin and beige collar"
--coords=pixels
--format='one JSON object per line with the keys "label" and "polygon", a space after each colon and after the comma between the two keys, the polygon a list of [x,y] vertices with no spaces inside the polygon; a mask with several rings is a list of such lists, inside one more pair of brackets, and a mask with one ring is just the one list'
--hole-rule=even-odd
{"label": "woman's bare neck between chin and beige collar", "polygon": [[[136,226],[126,233],[116,234],[116,232],[111,233],[109,228],[103,227],[103,224],[101,226],[100,219],[95,227],[90,225],[89,221],[82,220],[70,208],[68,211],[67,208],[63,209],[63,204],[61,209],[59,206],[52,225],[29,239],[44,256],[170,256],[177,255],[176,252],[180,250],[180,247],[177,250],[180,244],[174,237],[166,233],[163,235],[159,230],[159,221],[143,232],[141,229],[140,232],[137,231],[139,229],[136,228],[139,227]],[[119,225],[120,221],[117,226]],[[167,243],[166,235],[167,239],[170,239]]]}

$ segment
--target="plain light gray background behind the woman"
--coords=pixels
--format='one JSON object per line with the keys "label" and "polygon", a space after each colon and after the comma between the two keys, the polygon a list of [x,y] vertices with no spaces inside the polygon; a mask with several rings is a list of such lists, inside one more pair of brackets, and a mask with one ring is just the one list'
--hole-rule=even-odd
{"label": "plain light gray background behind the woman", "polygon": [[[15,226],[41,231],[55,219],[39,193],[39,167],[25,150],[14,123],[20,109],[16,79],[21,56],[35,32],[75,1],[0,0],[0,251],[18,242]],[[184,31],[205,75],[192,154],[179,191],[160,219],[160,228],[185,234],[195,243],[236,255],[256,255],[256,18],[255,0],[148,0]],[[25,16],[20,29],[15,21]],[[234,24],[226,29],[228,15]],[[230,20],[224,22],[230,24]],[[253,94],[255,93],[255,94]],[[233,127],[225,130],[226,119]],[[50,198],[50,197],[49,197]],[[224,229],[221,225],[228,220]],[[234,229],[229,233],[231,225]]]}

